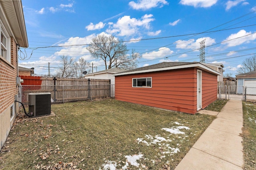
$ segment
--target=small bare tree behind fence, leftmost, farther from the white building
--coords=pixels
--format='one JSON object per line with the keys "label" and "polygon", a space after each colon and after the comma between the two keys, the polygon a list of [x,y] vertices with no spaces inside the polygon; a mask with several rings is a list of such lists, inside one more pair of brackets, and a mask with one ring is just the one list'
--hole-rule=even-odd
{"label": "small bare tree behind fence, leftmost, farther from the white building", "polygon": [[62,55],[60,57],[61,65],[59,66],[59,70],[57,72],[57,76],[59,77],[72,77],[74,76],[74,71],[72,66],[74,64],[74,58]]}

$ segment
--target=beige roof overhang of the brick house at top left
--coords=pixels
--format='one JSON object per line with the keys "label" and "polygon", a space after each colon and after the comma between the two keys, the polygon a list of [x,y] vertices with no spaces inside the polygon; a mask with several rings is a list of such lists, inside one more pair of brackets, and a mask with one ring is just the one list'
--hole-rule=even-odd
{"label": "beige roof overhang of the brick house at top left", "polygon": [[20,47],[28,47],[23,8],[21,0],[0,1],[0,15],[7,19],[4,25],[11,30],[8,33],[16,40]]}

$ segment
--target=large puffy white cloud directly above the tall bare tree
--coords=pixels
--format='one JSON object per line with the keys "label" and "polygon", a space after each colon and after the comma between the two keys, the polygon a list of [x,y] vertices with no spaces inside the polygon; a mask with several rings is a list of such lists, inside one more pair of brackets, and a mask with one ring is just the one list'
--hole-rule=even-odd
{"label": "large puffy white cloud directly above the tall bare tree", "polygon": [[109,28],[106,32],[110,34],[116,33],[118,36],[138,35],[140,29],[150,29],[150,22],[155,20],[152,17],[152,14],[146,14],[140,19],[123,16],[116,23],[109,23]]}

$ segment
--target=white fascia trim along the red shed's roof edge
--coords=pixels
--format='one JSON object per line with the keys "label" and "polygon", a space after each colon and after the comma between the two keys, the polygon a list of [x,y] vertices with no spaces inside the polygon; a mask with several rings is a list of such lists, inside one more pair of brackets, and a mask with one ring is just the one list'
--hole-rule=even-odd
{"label": "white fascia trim along the red shed's roof edge", "polygon": [[114,74],[114,76],[121,76],[121,75],[128,75],[128,74],[139,74],[139,73],[146,73],[146,72],[156,72],[156,71],[165,71],[165,70],[175,70],[175,69],[180,69],[180,68],[191,68],[191,67],[200,68],[207,72],[212,72],[216,75],[221,75],[219,72],[212,70],[208,66],[205,66],[201,63],[191,63],[191,64],[184,64],[184,65],[179,65],[179,66],[169,66],[169,67],[164,67],[164,68],[154,68],[154,69],[148,69],[148,70],[131,71],[131,72],[123,72],[123,73],[121,72],[121,73]]}

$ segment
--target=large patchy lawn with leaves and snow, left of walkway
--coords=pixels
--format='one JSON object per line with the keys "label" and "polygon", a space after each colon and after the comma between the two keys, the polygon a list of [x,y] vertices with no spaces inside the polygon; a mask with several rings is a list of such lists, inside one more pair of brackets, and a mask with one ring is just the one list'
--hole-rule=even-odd
{"label": "large patchy lawn with leaves and snow, left of walkway", "polygon": [[1,170],[174,169],[216,118],[114,99],[52,111],[56,116],[16,117],[0,151]]}

